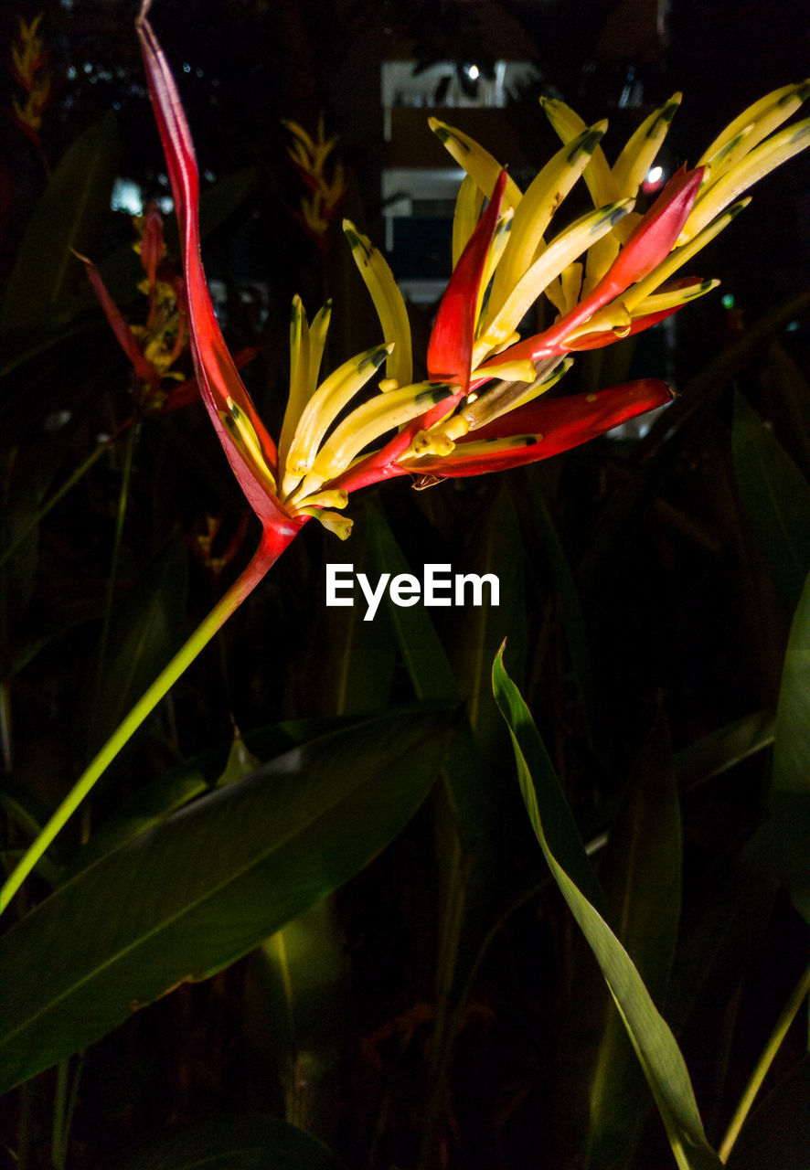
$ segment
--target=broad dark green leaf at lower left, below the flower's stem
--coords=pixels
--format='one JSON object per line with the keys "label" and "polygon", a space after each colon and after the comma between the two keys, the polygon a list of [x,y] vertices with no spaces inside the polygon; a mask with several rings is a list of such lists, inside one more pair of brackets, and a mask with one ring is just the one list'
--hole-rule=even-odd
{"label": "broad dark green leaf at lower left, below the flower's stem", "polygon": [[447,724],[397,714],[296,748],[60,887],[4,940],[4,1086],[221,970],[348,881],[424,800]]}

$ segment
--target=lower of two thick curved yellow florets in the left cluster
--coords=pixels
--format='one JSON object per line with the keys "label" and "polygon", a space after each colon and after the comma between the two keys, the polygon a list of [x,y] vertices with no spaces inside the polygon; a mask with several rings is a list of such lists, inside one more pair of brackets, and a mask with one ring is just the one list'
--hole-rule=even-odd
{"label": "lower of two thick curved yellow florets in the left cluster", "polygon": [[[310,474],[291,502],[295,504],[297,500],[304,497],[304,494],[317,490],[321,483],[334,480],[369,443],[387,431],[419,418],[431,406],[449,398],[457,390],[458,386],[451,383],[423,381],[392,390],[387,394],[378,394],[369,402],[358,406],[335,428],[317,453]],[[315,483],[316,480],[320,480],[320,483]]]}

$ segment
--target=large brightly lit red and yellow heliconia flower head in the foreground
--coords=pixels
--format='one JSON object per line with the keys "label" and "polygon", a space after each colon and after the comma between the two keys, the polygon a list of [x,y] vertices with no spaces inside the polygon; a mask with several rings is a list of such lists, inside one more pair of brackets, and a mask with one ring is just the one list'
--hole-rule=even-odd
{"label": "large brightly lit red and yellow heliconia flower head in the foreground", "polygon": [[[453,274],[427,347],[427,380],[412,380],[407,312],[391,269],[373,245],[344,222],[384,342],[322,379],[330,305],[310,322],[296,297],[289,397],[276,447],[236,373],[213,311],[200,261],[197,160],[174,81],[146,20],[149,6],[144,0],[138,33],[180,222],[198,384],[234,474],[262,523],[263,570],[310,518],[348,536],[351,522],[341,512],[349,493],[361,487],[401,475],[424,486],[516,467],[670,401],[667,386],[653,379],[595,394],[541,395],[560,380],[576,351],[650,328],[714,288],[714,281],[671,282],[670,276],[733,218],[739,204],[728,205],[742,190],[741,176],[748,185],[801,149],[799,139],[804,145],[799,128],[767,138],[776,119],[796,108],[802,89],[791,87],[789,96],[780,91],[782,97],[751,108],[753,129],[748,122],[734,123],[712,157],[678,172],[638,215],[638,188],[679,95],[641,124],[612,168],[599,146],[606,123],[588,128],[568,106],[547,103],[563,146],[526,193],[472,138],[431,119],[466,178],[453,222]],[[311,145],[322,166],[331,149],[323,132],[315,143],[301,128],[291,129],[298,163],[303,166]],[[748,154],[744,143],[754,147]],[[552,216],[581,177],[595,211],[547,242]],[[705,211],[698,212],[701,204]],[[543,332],[521,339],[519,326],[543,294],[558,317]],[[362,391],[365,400],[352,408]]]}

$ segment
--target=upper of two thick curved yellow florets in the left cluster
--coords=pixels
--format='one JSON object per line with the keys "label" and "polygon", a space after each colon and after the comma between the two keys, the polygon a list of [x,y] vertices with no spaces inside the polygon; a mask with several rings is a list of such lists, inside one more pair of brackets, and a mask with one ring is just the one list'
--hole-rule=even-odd
{"label": "upper of two thick curved yellow florets in the left cluster", "polygon": [[[315,391],[301,414],[287,455],[281,484],[286,497],[295,491],[301,477],[313,467],[317,449],[337,415],[379,370],[390,352],[390,345],[377,345],[350,358]],[[327,479],[329,476],[324,475],[321,482]]]}

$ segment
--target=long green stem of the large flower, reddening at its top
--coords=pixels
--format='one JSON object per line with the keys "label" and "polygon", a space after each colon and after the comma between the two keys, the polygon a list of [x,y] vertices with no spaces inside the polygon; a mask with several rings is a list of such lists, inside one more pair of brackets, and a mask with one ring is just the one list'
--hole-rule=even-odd
{"label": "long green stem of the large flower, reddening at its top", "polygon": [[56,834],[63,828],[76,808],[78,808],[80,804],[90,792],[99,776],[102,776],[109,768],[124,744],[129,742],[132,735],[135,735],[146,716],[155,710],[166,691],[194,661],[200,651],[208,645],[217,631],[225,625],[231,614],[239,608],[245,598],[256,587],[269,567],[275,560],[277,560],[287,545],[290,543],[300,526],[300,524],[282,523],[279,528],[265,529],[261,544],[259,545],[245,572],[217,603],[207,618],[205,618],[201,625],[198,626],[185,646],[178,651],[169,666],[160,672],[149,690],[140,696],[126,718],[118,727],[118,729],[112,732],[96,758],[80,776],[48,824],[36,837],[36,840],[32,842],[19,863],[12,870],[2,889],[0,889],[0,914],[7,908],[16,890],[52,844]]}

